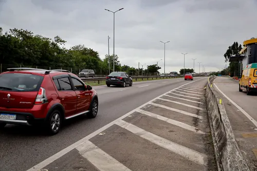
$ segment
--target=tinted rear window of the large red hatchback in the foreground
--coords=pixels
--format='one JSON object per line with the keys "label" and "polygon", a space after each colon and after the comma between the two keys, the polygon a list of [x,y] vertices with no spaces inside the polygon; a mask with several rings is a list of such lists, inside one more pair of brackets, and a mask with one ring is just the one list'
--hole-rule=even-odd
{"label": "tinted rear window of the large red hatchback in the foreground", "polygon": [[25,73],[0,74],[0,90],[4,91],[39,91],[44,77]]}

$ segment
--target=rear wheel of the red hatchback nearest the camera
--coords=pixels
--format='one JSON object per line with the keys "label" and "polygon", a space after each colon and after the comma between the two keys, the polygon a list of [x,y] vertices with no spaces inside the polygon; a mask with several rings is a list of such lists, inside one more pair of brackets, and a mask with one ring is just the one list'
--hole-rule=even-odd
{"label": "rear wheel of the red hatchback nearest the camera", "polygon": [[46,127],[48,129],[48,133],[50,135],[56,135],[58,134],[58,132],[60,131],[62,126],[62,115],[61,112],[59,110],[54,110],[47,123],[46,123]]}

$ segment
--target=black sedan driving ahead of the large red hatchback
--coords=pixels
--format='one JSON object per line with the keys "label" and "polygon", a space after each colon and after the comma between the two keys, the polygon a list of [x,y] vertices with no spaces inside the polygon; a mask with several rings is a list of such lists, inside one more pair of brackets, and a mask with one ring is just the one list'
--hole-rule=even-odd
{"label": "black sedan driving ahead of the large red hatchback", "polygon": [[126,72],[112,72],[106,77],[107,87],[111,85],[119,85],[125,87],[126,85],[132,86],[132,78]]}

